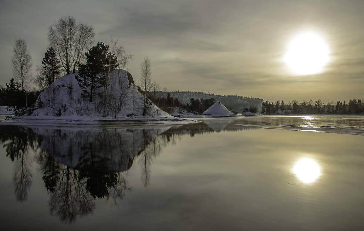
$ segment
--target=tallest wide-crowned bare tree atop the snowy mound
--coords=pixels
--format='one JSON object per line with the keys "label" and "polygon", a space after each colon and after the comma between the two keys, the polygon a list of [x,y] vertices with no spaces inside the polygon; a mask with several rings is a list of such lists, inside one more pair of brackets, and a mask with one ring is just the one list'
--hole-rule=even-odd
{"label": "tallest wide-crowned bare tree atop the snowy mound", "polygon": [[77,23],[70,15],[58,19],[48,28],[48,41],[59,56],[64,71],[68,75],[80,63],[86,51],[94,43],[94,27],[86,23]]}

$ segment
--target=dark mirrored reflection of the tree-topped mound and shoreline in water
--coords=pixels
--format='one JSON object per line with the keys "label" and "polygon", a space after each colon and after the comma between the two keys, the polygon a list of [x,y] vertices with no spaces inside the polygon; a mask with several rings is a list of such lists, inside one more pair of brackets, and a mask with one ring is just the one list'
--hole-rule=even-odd
{"label": "dark mirrored reflection of the tree-topped mound and shoreline in water", "polygon": [[[251,130],[229,120],[182,126],[127,126],[50,128],[1,126],[1,142],[14,162],[13,184],[17,201],[27,199],[32,184],[30,164],[35,161],[49,194],[48,208],[63,223],[92,214],[95,200],[118,205],[132,191],[125,172],[135,159],[145,187],[151,182],[151,164],[168,144],[181,136],[216,131]],[[31,152],[30,152],[31,151]],[[35,156],[32,156],[35,155]]]}

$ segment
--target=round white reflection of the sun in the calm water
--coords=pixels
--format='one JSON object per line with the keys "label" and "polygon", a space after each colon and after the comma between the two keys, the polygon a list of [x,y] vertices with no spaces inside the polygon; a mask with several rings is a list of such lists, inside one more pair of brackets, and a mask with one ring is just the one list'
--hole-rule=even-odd
{"label": "round white reflection of the sun in the calm water", "polygon": [[292,172],[301,182],[312,183],[321,175],[321,168],[316,161],[310,158],[302,158],[294,165]]}

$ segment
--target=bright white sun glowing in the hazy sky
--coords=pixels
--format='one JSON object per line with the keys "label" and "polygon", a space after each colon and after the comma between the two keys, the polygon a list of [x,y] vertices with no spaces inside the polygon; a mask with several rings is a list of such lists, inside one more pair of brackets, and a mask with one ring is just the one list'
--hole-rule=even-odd
{"label": "bright white sun glowing in the hazy sky", "polygon": [[289,43],[284,61],[298,75],[318,73],[329,61],[329,49],[322,37],[305,32]]}

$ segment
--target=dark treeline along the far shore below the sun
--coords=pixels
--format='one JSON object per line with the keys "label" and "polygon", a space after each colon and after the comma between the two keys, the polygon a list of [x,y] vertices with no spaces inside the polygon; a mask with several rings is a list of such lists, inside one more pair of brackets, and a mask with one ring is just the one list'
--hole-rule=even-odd
{"label": "dark treeline along the far shore below the sun", "polygon": [[293,100],[285,104],[283,100],[269,102],[264,101],[261,107],[262,114],[337,114],[337,115],[358,115],[364,113],[364,103],[360,99],[347,101],[333,101],[325,104],[321,100],[303,101],[299,103]]}

